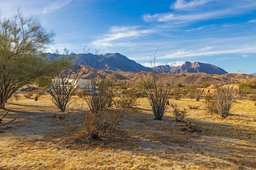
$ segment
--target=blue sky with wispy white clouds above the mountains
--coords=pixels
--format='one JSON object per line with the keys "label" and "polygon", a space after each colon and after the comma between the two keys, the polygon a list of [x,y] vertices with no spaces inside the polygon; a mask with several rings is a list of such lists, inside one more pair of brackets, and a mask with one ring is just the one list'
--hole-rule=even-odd
{"label": "blue sky with wispy white clouds above the mountains", "polygon": [[[256,73],[256,0],[1,0],[56,33],[47,52],[121,53],[144,66],[200,61],[229,73]],[[61,52],[60,52],[61,53]]]}

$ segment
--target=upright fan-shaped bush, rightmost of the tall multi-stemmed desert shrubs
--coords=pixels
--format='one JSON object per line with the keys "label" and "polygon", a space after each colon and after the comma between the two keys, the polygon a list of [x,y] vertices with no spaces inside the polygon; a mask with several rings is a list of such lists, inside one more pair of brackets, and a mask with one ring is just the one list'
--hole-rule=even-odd
{"label": "upright fan-shaped bush, rightmost of the tall multi-stemmed desert shrubs", "polygon": [[218,114],[222,118],[228,117],[234,101],[236,101],[236,92],[234,86],[218,87],[214,93]]}

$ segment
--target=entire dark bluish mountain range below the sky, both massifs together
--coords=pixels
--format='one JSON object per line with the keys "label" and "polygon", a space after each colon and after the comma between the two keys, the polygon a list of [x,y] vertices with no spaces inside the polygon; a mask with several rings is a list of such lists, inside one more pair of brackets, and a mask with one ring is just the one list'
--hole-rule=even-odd
{"label": "entire dark bluish mountain range below the sky, both massifs together", "polygon": [[[47,53],[48,57],[52,57],[53,54]],[[95,69],[102,69],[107,71],[152,71],[150,67],[144,67],[143,65],[136,63],[134,60],[128,59],[126,56],[120,53],[106,53],[95,55],[88,54],[71,54],[74,57],[73,63],[78,65],[88,65]],[[62,55],[59,55],[62,56]],[[95,63],[95,65],[94,65]],[[172,67],[170,65],[159,65],[153,68],[155,72],[161,73],[208,73],[208,74],[227,74],[224,69],[216,67],[212,64],[186,61],[182,66]]]}

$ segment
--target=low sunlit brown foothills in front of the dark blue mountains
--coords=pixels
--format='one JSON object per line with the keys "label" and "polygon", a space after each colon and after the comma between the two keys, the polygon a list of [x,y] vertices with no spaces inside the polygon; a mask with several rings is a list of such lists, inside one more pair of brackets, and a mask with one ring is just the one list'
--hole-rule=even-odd
{"label": "low sunlit brown foothills in front of the dark blue mountains", "polygon": [[[79,76],[81,78],[91,77],[91,73],[88,66],[85,65],[73,65],[69,72],[72,74],[77,73],[80,70]],[[127,82],[138,82],[142,81],[142,78],[147,74],[150,76],[150,72],[133,72],[133,71],[110,71],[110,70],[100,70],[96,69],[97,79],[106,76],[107,78],[114,79],[115,81],[127,81]],[[93,77],[94,77],[93,76]],[[210,83],[238,83],[244,80],[256,81],[256,76],[246,75],[246,74],[207,74],[207,73],[174,73],[168,74],[169,79],[172,79],[174,84],[190,84],[190,85],[200,85],[202,82],[209,81]]]}

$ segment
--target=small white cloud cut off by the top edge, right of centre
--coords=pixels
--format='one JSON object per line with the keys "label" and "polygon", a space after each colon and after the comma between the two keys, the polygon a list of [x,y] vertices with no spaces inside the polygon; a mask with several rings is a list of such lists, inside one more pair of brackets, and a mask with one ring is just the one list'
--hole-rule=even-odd
{"label": "small white cloud cut off by the top edge, right of centre", "polygon": [[216,0],[192,0],[190,2],[186,2],[184,0],[176,0],[170,8],[175,10],[191,10],[192,8],[202,6],[208,2],[212,2]]}

